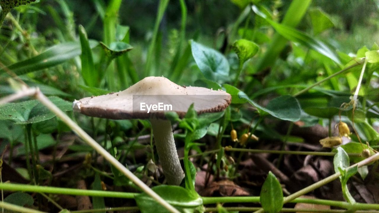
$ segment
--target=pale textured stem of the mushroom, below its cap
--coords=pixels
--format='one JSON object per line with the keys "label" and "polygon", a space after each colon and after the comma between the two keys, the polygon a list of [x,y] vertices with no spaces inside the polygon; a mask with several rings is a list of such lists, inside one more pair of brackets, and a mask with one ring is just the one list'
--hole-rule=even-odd
{"label": "pale textured stem of the mushroom, below its cap", "polygon": [[174,135],[172,134],[171,121],[150,119],[153,129],[155,146],[164,175],[170,185],[180,185],[184,178],[182,166],[176,150]]}

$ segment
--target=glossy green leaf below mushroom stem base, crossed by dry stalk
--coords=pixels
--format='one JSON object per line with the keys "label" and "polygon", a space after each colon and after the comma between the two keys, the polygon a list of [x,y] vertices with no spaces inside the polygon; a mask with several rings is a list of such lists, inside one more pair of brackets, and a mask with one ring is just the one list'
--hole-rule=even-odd
{"label": "glossy green leaf below mushroom stem base, crossed by dry stalk", "polygon": [[[179,211],[194,209],[203,203],[199,195],[194,195],[180,186],[160,185],[153,187],[152,190]],[[146,193],[138,194],[135,196],[135,200],[142,213],[167,212],[166,208],[158,204]]]}

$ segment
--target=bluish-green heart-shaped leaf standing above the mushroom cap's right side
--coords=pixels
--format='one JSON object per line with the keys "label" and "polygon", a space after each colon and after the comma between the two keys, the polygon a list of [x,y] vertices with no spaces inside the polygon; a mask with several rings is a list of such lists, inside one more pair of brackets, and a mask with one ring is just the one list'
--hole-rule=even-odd
{"label": "bluish-green heart-shaped leaf standing above the mushroom cap's right side", "polygon": [[192,56],[204,77],[213,81],[229,78],[229,63],[218,51],[191,41]]}

